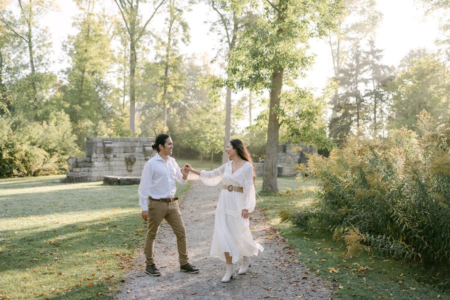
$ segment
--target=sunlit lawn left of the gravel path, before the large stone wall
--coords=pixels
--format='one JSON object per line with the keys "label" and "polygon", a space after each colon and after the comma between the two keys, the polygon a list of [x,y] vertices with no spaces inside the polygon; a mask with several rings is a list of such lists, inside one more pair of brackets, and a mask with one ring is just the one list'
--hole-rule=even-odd
{"label": "sunlit lawn left of the gravel path, before the large stone wall", "polygon": [[143,245],[137,185],[60,177],[0,180],[0,298],[109,298]]}

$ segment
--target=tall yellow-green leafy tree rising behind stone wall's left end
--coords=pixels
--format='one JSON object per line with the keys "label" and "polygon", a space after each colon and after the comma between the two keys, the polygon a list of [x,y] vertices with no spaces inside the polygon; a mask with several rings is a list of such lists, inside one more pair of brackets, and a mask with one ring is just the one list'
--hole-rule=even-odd
{"label": "tall yellow-green leafy tree rising behind stone wall's left end", "polygon": [[[76,128],[78,145],[84,146],[84,138],[96,136],[98,123],[109,119],[106,97],[110,86],[106,73],[110,69],[112,53],[110,37],[98,13],[97,0],[76,0],[81,13],[75,16],[73,26],[79,31],[69,36],[65,49],[71,66],[65,71],[65,111]],[[62,107],[61,107],[62,108]]]}

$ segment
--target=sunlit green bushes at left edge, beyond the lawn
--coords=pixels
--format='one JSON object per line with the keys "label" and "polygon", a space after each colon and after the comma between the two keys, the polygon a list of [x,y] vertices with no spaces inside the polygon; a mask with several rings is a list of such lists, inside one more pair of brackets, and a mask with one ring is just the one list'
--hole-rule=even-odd
{"label": "sunlit green bushes at left edge, beyond the lawn", "polygon": [[55,174],[66,158],[78,154],[68,116],[60,111],[48,122],[0,116],[0,177]]}

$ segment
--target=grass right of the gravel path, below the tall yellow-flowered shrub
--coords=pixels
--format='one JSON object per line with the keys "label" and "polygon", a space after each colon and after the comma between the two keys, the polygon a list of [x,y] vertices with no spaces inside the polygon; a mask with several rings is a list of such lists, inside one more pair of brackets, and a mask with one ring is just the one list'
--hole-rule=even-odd
{"label": "grass right of the gravel path, below the tall yellow-flowered shrub", "polygon": [[[257,178],[257,190],[261,183],[261,178]],[[286,188],[301,188],[301,193],[285,192]],[[365,251],[348,259],[345,244],[334,241],[330,233],[300,230],[290,222],[280,223],[277,215],[280,209],[311,205],[315,189],[311,182],[298,183],[294,177],[279,177],[278,190],[282,192],[261,194],[263,201],[257,201],[256,205],[264,210],[270,224],[295,247],[298,259],[310,272],[335,283],[335,292],[341,299],[450,299],[450,291],[431,284],[439,279],[435,278],[431,267]]]}

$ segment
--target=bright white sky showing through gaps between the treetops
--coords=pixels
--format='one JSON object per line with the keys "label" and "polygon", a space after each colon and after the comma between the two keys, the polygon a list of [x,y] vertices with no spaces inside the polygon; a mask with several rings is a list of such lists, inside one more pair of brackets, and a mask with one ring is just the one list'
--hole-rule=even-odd
{"label": "bright white sky showing through gaps between the treetops", "polygon": [[[42,23],[49,28],[52,37],[55,64],[53,71],[59,71],[65,65],[59,63],[63,57],[62,42],[67,34],[75,34],[72,28],[72,17],[77,13],[72,0],[56,0],[60,10],[50,12]],[[109,2],[109,1],[105,1]],[[115,4],[110,1],[115,9]],[[397,65],[409,50],[419,47],[434,49],[434,40],[438,35],[438,20],[425,17],[423,8],[414,0],[376,0],[377,9],[383,14],[383,19],[376,30],[376,46],[384,49],[383,62],[387,65]],[[204,4],[195,4],[190,12],[185,13],[185,19],[190,26],[190,44],[182,48],[185,54],[196,53],[197,56],[215,55],[214,47],[217,40],[209,33],[204,22],[209,17],[215,17]],[[159,30],[163,22],[162,16],[153,20],[151,27]],[[301,84],[311,86],[319,91],[324,87],[326,79],[332,76],[332,61],[329,46],[324,40],[311,42],[311,50],[316,54],[315,64]],[[149,57],[151,58],[151,57]]]}

